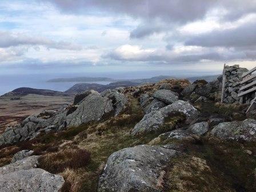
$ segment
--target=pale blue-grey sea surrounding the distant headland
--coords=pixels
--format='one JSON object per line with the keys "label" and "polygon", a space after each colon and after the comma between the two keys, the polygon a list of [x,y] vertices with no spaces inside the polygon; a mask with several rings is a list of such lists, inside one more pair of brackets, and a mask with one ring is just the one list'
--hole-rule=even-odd
{"label": "pale blue-grey sea surrounding the distant headland", "polygon": [[[215,72],[216,74],[219,73]],[[127,72],[113,72],[113,73],[73,73],[73,74],[0,74],[0,95],[8,93],[19,87],[31,87],[35,89],[48,89],[55,91],[66,91],[76,83],[82,82],[47,82],[53,78],[74,78],[74,77],[108,77],[113,79],[138,79],[138,78],[151,78],[158,75],[170,75],[172,77],[194,77],[198,75],[212,75],[209,73],[198,73],[198,71],[127,71]],[[98,83],[102,85],[111,82],[85,82],[85,83]]]}

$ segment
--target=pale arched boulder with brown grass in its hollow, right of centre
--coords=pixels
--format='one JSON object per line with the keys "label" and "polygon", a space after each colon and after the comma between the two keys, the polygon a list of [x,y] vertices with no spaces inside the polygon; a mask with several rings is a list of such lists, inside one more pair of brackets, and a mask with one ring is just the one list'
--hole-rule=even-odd
{"label": "pale arched boulder with brown grass in its hollow, right of centre", "polygon": [[175,113],[185,114],[189,121],[192,121],[199,115],[199,111],[190,105],[189,102],[179,100],[162,109],[146,114],[142,120],[135,125],[131,134],[139,135],[162,131],[163,128],[161,126],[165,123],[165,118]]}

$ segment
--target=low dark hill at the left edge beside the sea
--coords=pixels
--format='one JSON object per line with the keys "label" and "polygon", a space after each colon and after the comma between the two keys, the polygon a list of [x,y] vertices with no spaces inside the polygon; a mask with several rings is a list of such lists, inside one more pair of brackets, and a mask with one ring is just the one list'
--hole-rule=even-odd
{"label": "low dark hill at the left edge beside the sea", "polygon": [[69,94],[63,93],[61,91],[53,91],[53,90],[46,90],[46,89],[33,89],[29,87],[21,87],[18,89],[14,89],[1,97],[5,96],[14,96],[14,97],[22,97],[28,94],[37,94],[37,95],[45,95],[45,96],[67,96]]}

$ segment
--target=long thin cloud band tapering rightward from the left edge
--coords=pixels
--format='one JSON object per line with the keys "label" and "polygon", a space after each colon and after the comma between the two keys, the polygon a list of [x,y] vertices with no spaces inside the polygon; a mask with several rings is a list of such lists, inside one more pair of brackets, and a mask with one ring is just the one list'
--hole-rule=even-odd
{"label": "long thin cloud band tapering rightward from the left edge", "polygon": [[75,45],[65,41],[52,41],[43,37],[29,37],[21,33],[10,33],[7,31],[0,31],[0,47],[6,48],[11,46],[32,45],[32,46],[46,46],[52,49],[63,50],[81,50],[82,46]]}

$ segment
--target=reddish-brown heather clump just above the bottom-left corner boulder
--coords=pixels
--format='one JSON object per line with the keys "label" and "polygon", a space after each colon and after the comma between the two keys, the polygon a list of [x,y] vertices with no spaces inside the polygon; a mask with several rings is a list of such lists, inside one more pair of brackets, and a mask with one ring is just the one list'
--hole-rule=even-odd
{"label": "reddish-brown heather clump just above the bottom-left corner boulder", "polygon": [[42,155],[39,165],[50,173],[61,173],[65,169],[78,169],[90,162],[90,153],[85,149],[66,149]]}

